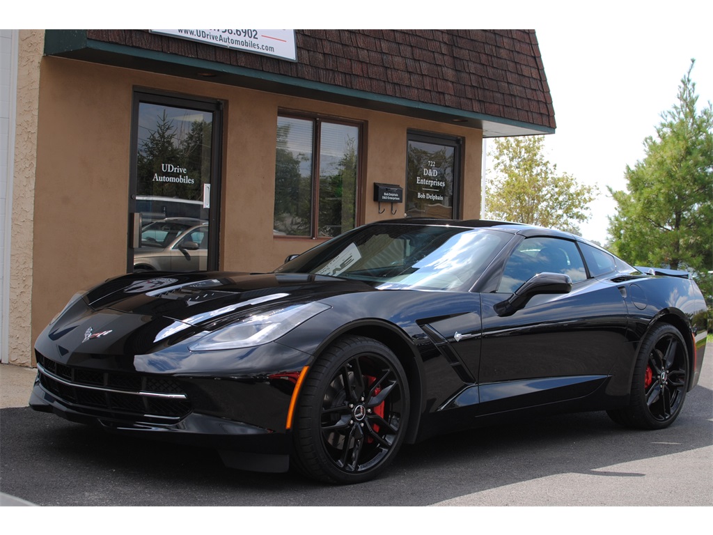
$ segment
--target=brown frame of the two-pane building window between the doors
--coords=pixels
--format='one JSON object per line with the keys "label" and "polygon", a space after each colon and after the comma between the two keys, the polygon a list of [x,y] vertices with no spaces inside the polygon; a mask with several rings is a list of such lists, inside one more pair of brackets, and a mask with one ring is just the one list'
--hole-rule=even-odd
{"label": "brown frame of the two-pane building window between the doors", "polygon": [[[324,115],[322,113],[309,113],[304,111],[293,111],[293,110],[278,110],[277,120],[280,118],[291,118],[298,119],[300,121],[311,121],[312,122],[312,187],[311,187],[311,209],[309,210],[309,235],[289,235],[280,234],[272,235],[273,239],[279,240],[329,240],[332,236],[322,236],[319,235],[319,170],[320,170],[320,159],[321,159],[321,142],[322,142],[322,124],[337,124],[344,126],[353,126],[357,128],[357,154],[356,154],[356,185],[354,190],[354,227],[364,223],[363,218],[363,167],[362,162],[364,161],[364,137],[366,130],[366,122],[359,121],[357,119],[349,119],[343,117],[335,117]],[[277,173],[276,173],[277,174]],[[277,176],[275,177],[277,178]],[[277,196],[277,191],[275,191],[275,196]],[[274,210],[274,208],[273,208]],[[275,213],[272,214],[272,220],[275,221]],[[352,230],[352,229],[347,229]],[[342,233],[347,230],[342,230]]]}

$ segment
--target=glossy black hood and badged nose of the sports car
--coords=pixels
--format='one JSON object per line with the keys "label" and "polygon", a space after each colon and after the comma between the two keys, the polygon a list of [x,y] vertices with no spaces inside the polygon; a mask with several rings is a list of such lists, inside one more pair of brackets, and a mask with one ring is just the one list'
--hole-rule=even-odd
{"label": "glossy black hood and badged nose of the sports car", "polygon": [[[132,355],[148,355],[180,345],[183,340],[255,312],[334,295],[374,291],[364,282],[324,275],[226,272],[125,275],[72,300],[46,327],[35,348],[58,362],[133,370]],[[183,349],[187,354],[187,348]],[[96,355],[113,355],[116,359],[97,360]]]}

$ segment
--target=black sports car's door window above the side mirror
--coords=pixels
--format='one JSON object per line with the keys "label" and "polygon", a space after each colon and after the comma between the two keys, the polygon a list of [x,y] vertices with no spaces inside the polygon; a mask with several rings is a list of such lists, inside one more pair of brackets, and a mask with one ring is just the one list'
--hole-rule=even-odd
{"label": "black sports car's door window above the side mirror", "polygon": [[512,293],[526,280],[543,272],[569,275],[572,282],[587,278],[582,255],[574,242],[559,238],[527,238],[508,259],[498,292]]}

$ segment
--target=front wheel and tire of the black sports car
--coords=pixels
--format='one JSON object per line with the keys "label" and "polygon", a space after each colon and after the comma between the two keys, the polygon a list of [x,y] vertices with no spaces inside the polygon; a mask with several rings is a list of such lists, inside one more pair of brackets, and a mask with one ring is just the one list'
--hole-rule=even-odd
{"label": "front wheel and tire of the black sports car", "polygon": [[299,394],[294,459],[318,481],[361,483],[396,457],[409,420],[409,384],[389,347],[343,337],[319,356]]}

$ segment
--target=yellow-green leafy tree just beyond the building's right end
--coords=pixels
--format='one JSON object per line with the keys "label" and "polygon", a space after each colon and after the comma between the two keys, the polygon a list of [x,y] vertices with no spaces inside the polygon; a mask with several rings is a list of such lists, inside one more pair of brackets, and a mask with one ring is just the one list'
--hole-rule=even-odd
{"label": "yellow-green leafy tree just beyond the building's right end", "polygon": [[486,217],[579,234],[597,189],[557,173],[543,153],[543,136],[499,138],[486,180]]}

